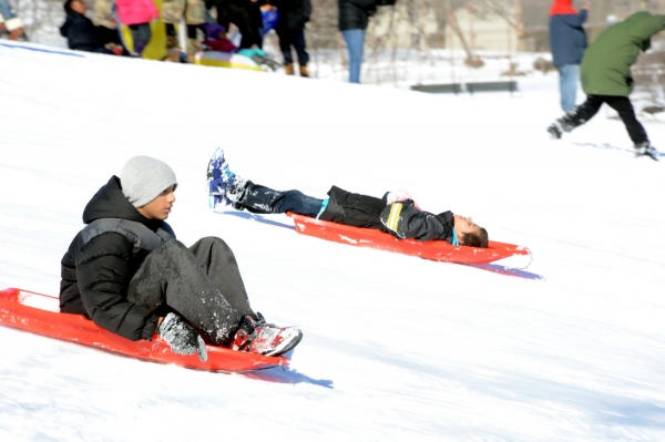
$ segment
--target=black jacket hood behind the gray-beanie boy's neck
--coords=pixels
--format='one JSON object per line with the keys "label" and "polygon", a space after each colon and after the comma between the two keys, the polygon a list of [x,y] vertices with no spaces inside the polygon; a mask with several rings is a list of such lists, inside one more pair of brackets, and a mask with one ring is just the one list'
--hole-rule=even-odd
{"label": "black jacket hood behind the gray-beanie boy's neck", "polygon": [[83,223],[90,224],[100,218],[122,218],[144,224],[152,230],[162,226],[161,219],[149,219],[132,206],[122,193],[120,178],[115,175],[104,184],[83,209]]}

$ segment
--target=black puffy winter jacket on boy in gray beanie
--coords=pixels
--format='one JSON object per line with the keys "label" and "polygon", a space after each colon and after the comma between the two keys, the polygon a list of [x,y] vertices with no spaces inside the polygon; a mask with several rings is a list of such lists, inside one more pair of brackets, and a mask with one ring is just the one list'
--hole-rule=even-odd
{"label": "black puffy winter jacket on boy in gray beanie", "polygon": [[129,301],[127,287],[145,257],[175,239],[171,226],[141,215],[116,176],[88,203],[83,223],[62,257],[60,310],[84,315],[123,338],[152,339],[157,316]]}

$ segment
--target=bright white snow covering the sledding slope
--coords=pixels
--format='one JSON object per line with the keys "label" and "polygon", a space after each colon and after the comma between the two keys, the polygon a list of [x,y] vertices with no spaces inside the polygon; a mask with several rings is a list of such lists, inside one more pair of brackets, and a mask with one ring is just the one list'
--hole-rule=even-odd
{"label": "bright white snow covering the sledding slope", "polygon": [[[286,370],[221,374],[0,327],[0,440],[665,440],[665,165],[604,110],[550,141],[555,75],[428,95],[55,51],[0,44],[0,288],[58,294],[85,203],[144,154],[176,172],[178,238],[224,238],[255,309],[305,338]],[[409,189],[534,261],[498,275],[214,214],[218,145],[276,188]]]}

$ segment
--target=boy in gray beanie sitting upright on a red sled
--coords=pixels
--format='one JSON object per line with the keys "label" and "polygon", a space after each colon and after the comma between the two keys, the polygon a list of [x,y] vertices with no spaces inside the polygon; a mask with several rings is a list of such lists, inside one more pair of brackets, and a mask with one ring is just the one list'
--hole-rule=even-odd
{"label": "boy in gray beanie sitting upright on a red sled", "polygon": [[83,210],[88,226],[61,261],[60,310],[134,341],[156,332],[174,353],[198,352],[202,361],[200,333],[258,354],[293,349],[303,333],[252,309],[224,240],[206,237],[187,248],[175,239],[165,219],[176,186],[166,163],[135,156],[98,191]]}

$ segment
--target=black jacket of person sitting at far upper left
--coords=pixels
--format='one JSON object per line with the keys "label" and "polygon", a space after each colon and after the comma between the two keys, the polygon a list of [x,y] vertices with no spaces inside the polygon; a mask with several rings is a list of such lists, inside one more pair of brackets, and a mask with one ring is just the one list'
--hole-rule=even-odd
{"label": "black jacket of person sitting at far upper left", "polygon": [[117,31],[95,27],[92,20],[75,11],[68,11],[66,20],[60,27],[60,34],[66,39],[69,49],[78,51],[103,51],[104,44],[120,42]]}

